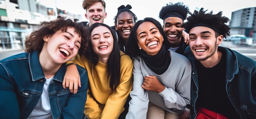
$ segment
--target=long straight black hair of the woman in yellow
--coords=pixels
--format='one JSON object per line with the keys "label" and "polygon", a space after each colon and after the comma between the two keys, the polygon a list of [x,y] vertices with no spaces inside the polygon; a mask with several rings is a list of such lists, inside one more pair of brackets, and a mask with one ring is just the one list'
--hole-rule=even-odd
{"label": "long straight black hair of the woman in yellow", "polygon": [[[108,70],[107,76],[108,76],[110,88],[112,90],[111,93],[113,93],[117,89],[117,86],[120,83],[120,50],[117,43],[116,33],[108,25],[103,23],[94,23],[90,25],[89,33],[91,34],[92,30],[99,26],[107,27],[110,30],[114,40],[113,50],[110,53],[110,57],[108,58],[108,61],[107,61],[107,70]],[[99,57],[92,49],[92,39],[89,40],[88,45],[89,45],[89,48],[85,54],[85,57],[88,58],[90,70],[92,71],[97,65],[99,61]]]}

